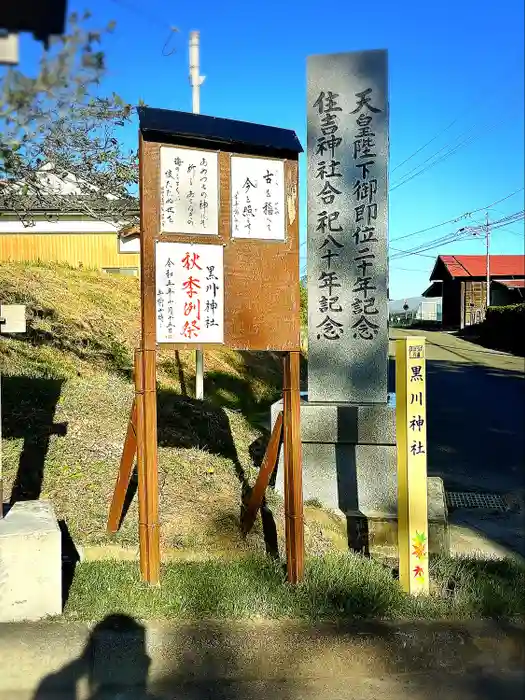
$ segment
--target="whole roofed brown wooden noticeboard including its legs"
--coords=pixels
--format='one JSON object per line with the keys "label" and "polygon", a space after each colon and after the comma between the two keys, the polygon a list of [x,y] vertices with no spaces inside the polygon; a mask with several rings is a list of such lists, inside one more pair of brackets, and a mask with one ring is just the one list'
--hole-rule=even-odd
{"label": "whole roofed brown wooden noticeboard including its legs", "polygon": [[[140,107],[138,114],[142,345],[135,424],[128,434],[137,444],[139,501],[142,484],[146,504],[139,508],[146,521],[140,524],[143,576],[150,582],[159,577],[156,351],[159,344],[167,344],[179,349],[224,346],[286,352],[287,555],[289,579],[297,581],[304,549],[299,435],[301,145],[295,133],[285,129],[147,107]],[[118,527],[130,468],[123,455],[108,522],[111,531]]]}

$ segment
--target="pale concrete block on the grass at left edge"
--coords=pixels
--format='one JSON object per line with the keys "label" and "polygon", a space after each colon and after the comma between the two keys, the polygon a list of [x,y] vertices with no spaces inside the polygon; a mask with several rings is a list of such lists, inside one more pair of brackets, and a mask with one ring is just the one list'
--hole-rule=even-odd
{"label": "pale concrete block on the grass at left edge", "polygon": [[15,503],[0,520],[0,622],[61,613],[61,533],[53,507]]}

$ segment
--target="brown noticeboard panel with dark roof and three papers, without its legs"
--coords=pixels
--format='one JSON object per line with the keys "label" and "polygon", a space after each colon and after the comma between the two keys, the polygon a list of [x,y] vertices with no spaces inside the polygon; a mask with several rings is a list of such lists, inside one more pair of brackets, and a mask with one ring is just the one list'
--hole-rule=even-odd
{"label": "brown noticeboard panel with dark roof and three papers, without its legs", "polygon": [[[204,349],[296,351],[295,132],[140,107],[144,333]],[[173,245],[177,244],[177,245]],[[149,295],[148,295],[149,296]]]}

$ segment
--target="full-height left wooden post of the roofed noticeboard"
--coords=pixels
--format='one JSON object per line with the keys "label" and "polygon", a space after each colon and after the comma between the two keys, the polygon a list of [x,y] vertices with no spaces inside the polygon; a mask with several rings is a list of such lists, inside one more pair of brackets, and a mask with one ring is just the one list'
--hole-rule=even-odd
{"label": "full-height left wooden post of the roofed noticeboard", "polygon": [[[139,136],[139,184],[140,184],[140,283],[142,316],[142,367],[144,381],[144,480],[146,491],[146,527],[148,582],[157,584],[160,577],[158,473],[157,473],[157,339],[155,300],[155,237],[159,222],[158,212],[152,204],[156,201],[156,178],[151,172],[151,162],[146,173],[146,149],[155,144],[144,143]],[[148,202],[146,206],[145,202]],[[140,440],[140,437],[139,437]]]}

